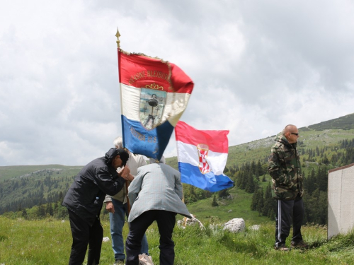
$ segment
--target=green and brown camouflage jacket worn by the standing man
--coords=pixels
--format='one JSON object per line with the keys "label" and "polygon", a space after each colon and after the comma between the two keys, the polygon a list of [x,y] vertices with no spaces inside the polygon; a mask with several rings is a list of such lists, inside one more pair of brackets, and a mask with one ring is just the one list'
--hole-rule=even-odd
{"label": "green and brown camouflage jacket worn by the standing man", "polygon": [[274,199],[293,200],[297,194],[304,195],[303,177],[296,143],[289,143],[278,134],[268,158],[268,172],[273,180]]}

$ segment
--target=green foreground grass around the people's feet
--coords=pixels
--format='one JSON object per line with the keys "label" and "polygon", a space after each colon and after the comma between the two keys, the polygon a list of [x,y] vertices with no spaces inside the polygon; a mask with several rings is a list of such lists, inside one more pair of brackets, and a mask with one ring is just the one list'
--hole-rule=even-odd
{"label": "green foreground grass around the people's feet", "polygon": [[[103,220],[104,236],[109,235],[109,222]],[[353,264],[354,233],[326,240],[326,227],[304,226],[302,234],[310,249],[278,252],[273,249],[274,224],[261,223],[260,230],[233,234],[221,225],[205,229],[198,226],[176,227],[173,240],[176,265],[200,264]],[[127,236],[127,224],[123,231]],[[154,264],[159,264],[159,232],[156,224],[147,230],[149,252]],[[0,264],[67,264],[72,237],[69,221],[12,220],[0,216]],[[101,264],[113,264],[111,242],[103,242]],[[290,242],[287,242],[289,245]],[[86,260],[85,263],[86,264]]]}

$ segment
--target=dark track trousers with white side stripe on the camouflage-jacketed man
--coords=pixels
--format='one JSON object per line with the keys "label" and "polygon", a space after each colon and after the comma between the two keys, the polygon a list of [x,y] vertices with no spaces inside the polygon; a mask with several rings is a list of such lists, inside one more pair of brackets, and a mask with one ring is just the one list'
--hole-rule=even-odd
{"label": "dark track trousers with white side stripe on the camouflage-jacketed man", "polygon": [[304,201],[297,195],[295,200],[278,200],[275,218],[275,247],[285,244],[292,225],[292,241],[302,240],[301,225],[304,220]]}

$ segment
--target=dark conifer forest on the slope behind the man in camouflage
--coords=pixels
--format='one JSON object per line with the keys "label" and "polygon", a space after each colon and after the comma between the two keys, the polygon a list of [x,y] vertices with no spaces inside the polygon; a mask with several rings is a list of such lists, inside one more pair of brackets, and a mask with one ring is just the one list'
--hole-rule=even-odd
{"label": "dark conifer forest on the slope behind the man in camouflage", "polygon": [[[298,146],[300,146],[298,150],[304,173],[304,222],[326,225],[328,170],[354,163],[354,139],[344,139],[332,146],[322,148],[318,146],[316,148],[302,148],[301,141]],[[258,211],[259,215],[274,220],[276,204],[271,194],[271,182],[267,167],[268,156],[265,156],[263,160],[252,160],[249,163],[225,167],[224,174],[231,177],[239,189],[253,194],[250,203],[251,211]],[[187,186],[185,188],[187,203],[213,196],[205,190]],[[217,193],[219,198],[228,195],[227,189]],[[212,206],[217,206],[215,195]]]}

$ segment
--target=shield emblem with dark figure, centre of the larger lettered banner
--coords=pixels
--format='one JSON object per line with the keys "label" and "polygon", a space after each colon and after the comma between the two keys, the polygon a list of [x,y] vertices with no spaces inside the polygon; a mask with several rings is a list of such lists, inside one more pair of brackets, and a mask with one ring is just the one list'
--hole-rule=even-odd
{"label": "shield emblem with dark figure, centre of the larger lettered banner", "polygon": [[[151,89],[152,88],[152,89]],[[161,123],[166,105],[166,91],[153,83],[142,88],[140,93],[140,122],[145,129],[154,129]]]}

